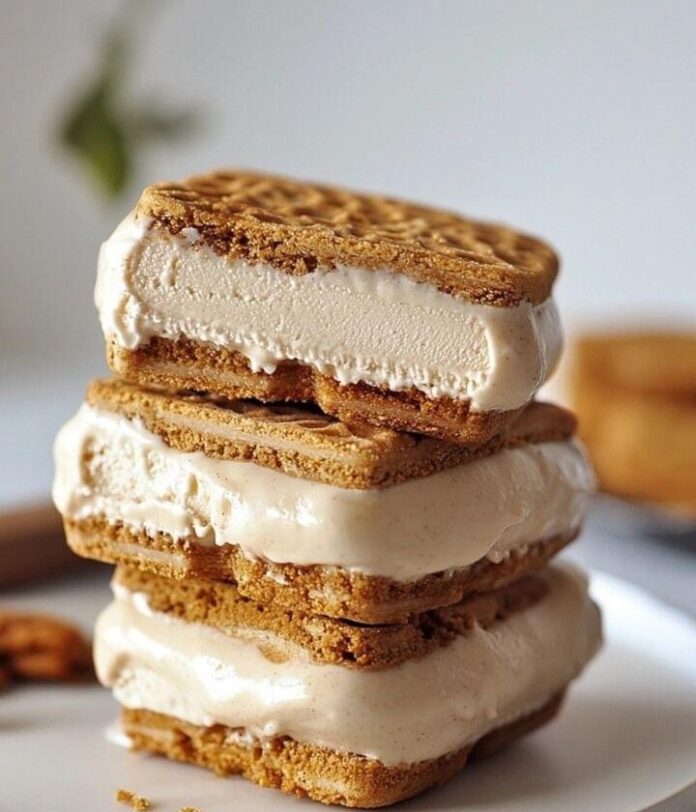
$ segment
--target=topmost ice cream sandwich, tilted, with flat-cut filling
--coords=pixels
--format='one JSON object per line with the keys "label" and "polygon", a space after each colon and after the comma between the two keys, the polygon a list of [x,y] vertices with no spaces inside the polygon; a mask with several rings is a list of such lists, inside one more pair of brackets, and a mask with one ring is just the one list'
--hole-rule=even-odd
{"label": "topmost ice cream sandwich, tilted, with flat-cut filling", "polygon": [[248,172],[145,189],[104,243],[113,371],[486,442],[553,371],[553,250],[511,228]]}

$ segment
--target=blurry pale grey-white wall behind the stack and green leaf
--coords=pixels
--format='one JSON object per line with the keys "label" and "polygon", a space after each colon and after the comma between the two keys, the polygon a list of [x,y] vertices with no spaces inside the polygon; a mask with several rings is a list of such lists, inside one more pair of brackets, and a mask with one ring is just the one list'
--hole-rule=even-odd
{"label": "blurry pale grey-white wall behind the stack and green leaf", "polygon": [[443,204],[547,237],[571,328],[696,317],[692,0],[147,6],[133,92],[202,122],[106,204],[56,130],[121,4],[3,4],[0,506],[48,490],[104,370],[99,242],[156,179],[241,165]]}

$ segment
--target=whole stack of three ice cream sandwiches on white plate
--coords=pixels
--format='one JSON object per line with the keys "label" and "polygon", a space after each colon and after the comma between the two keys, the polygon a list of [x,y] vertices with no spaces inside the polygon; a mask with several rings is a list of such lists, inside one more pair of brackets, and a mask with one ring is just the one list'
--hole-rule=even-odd
{"label": "whole stack of three ice cream sandwiches on white plate", "polygon": [[551,719],[600,644],[555,554],[593,487],[553,251],[243,172],[147,188],[104,244],[110,380],[56,442],[95,658],[133,747],[394,803]]}

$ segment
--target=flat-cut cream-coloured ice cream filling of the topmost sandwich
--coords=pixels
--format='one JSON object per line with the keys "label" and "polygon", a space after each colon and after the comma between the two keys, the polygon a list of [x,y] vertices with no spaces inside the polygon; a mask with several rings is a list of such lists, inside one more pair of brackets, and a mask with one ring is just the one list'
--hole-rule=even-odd
{"label": "flat-cut cream-coloured ice cream filling of the topmost sandwich", "polygon": [[527,403],[561,347],[551,299],[474,304],[389,270],[293,276],[221,256],[194,228],[173,236],[134,215],[102,246],[95,298],[105,335],[126,349],[186,338],[235,350],[253,371],[297,361],[341,383],[416,389],[479,411]]}

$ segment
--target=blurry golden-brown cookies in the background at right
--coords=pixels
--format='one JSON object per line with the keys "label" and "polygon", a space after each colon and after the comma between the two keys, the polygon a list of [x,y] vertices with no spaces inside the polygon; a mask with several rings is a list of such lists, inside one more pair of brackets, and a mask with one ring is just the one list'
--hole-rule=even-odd
{"label": "blurry golden-brown cookies in the background at right", "polygon": [[696,522],[696,333],[587,334],[570,385],[601,490]]}

